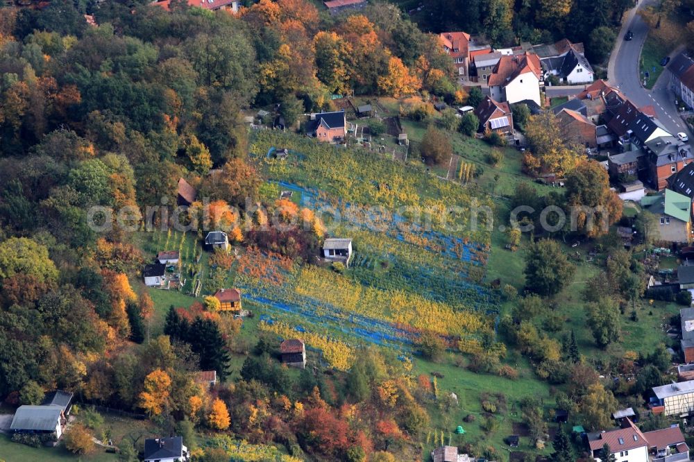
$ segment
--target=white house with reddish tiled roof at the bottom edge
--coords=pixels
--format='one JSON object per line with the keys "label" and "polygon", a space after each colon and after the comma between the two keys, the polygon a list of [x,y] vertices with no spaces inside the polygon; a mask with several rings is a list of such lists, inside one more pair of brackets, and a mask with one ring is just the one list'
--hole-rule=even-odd
{"label": "white house with reddish tiled roof at the bottom edge", "polygon": [[588,445],[591,455],[601,461],[607,460],[602,447],[608,445],[617,462],[649,462],[648,440],[629,418],[622,428],[588,434]]}

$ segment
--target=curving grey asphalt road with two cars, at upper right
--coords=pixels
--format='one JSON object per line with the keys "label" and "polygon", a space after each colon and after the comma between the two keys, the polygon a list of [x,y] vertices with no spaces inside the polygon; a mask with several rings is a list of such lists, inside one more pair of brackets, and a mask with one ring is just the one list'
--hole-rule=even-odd
{"label": "curving grey asphalt road with two cars, at upper right", "polygon": [[[677,115],[675,94],[668,89],[670,71],[667,69],[663,71],[652,90],[645,89],[641,85],[638,60],[641,47],[648,34],[648,25],[643,22],[641,16],[636,14],[636,9],[641,8],[644,3],[644,0],[640,1],[639,5],[632,8],[627,15],[609,60],[607,77],[609,82],[617,85],[634,104],[653,105],[658,120],[673,135],[677,132],[686,132],[682,119]],[[629,30],[634,33],[634,38],[626,41],[624,35]]]}

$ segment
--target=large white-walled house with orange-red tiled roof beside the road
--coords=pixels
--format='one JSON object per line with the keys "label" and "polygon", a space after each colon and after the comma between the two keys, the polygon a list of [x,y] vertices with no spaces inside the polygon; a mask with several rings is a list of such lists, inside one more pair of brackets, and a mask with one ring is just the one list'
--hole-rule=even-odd
{"label": "large white-walled house with orange-red tiled roof beside the road", "polygon": [[489,92],[495,101],[517,103],[530,99],[540,105],[542,68],[537,55],[502,56],[489,77]]}

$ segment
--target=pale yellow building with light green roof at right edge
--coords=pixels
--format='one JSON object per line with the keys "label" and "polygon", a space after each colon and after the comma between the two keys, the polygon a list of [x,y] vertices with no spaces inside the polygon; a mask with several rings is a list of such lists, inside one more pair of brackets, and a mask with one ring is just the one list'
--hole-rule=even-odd
{"label": "pale yellow building with light green roof at right edge", "polygon": [[691,200],[666,189],[654,196],[643,196],[641,207],[658,219],[657,241],[688,243],[691,241]]}

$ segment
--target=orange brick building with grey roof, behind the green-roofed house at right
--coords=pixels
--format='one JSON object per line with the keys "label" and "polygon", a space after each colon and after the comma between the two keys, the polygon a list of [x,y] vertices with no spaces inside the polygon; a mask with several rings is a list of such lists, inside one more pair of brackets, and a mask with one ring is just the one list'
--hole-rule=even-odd
{"label": "orange brick building with grey roof, behind the green-roofed house at right", "polygon": [[671,135],[650,139],[643,144],[643,151],[650,167],[648,180],[658,190],[668,187],[668,178],[693,159],[691,146]]}

